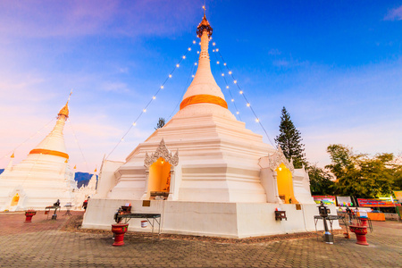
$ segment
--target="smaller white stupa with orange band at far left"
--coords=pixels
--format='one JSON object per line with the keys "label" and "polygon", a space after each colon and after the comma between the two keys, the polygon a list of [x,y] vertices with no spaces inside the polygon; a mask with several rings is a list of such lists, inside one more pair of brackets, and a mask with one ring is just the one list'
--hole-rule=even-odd
{"label": "smaller white stupa with orange band at far left", "polygon": [[0,211],[45,209],[57,199],[61,205],[73,201],[76,182],[68,164],[63,137],[68,116],[67,102],[58,113],[54,129],[27,158],[15,165],[11,159],[0,175]]}

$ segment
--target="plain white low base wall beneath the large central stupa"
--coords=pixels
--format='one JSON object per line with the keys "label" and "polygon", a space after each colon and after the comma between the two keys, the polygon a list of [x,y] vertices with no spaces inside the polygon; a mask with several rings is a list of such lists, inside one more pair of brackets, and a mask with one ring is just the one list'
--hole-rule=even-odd
{"label": "plain white low base wall beneath the large central stupa", "polygon": [[[301,210],[297,210],[295,204],[151,200],[150,206],[142,206],[141,200],[91,198],[82,228],[110,230],[114,223],[113,214],[126,203],[131,204],[132,213],[161,214],[162,233],[232,239],[315,231],[314,215],[318,214],[316,204],[301,205]],[[286,211],[288,220],[275,221],[275,208]],[[329,205],[329,208],[336,214],[335,205]],[[142,220],[131,219],[129,230],[151,231],[150,226],[141,228]],[[317,230],[322,230],[322,227],[322,221],[319,221]],[[340,229],[338,221],[334,221],[333,229]]]}

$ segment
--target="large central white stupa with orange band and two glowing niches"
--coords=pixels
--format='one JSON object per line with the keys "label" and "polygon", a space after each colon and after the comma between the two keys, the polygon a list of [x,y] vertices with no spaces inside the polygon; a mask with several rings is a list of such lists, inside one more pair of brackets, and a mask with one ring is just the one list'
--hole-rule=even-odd
{"label": "large central white stupa with orange band and two glowing niches", "polygon": [[[133,212],[162,214],[163,232],[242,238],[314,230],[306,172],[298,172],[296,188],[302,190],[295,190],[293,164],[281,149],[265,144],[228,110],[210,68],[212,31],[204,15],[197,28],[198,69],[180,111],[124,163],[102,164],[83,228],[109,229],[117,208],[130,203]],[[275,221],[276,208],[291,221]],[[140,230],[131,222],[130,230]]]}

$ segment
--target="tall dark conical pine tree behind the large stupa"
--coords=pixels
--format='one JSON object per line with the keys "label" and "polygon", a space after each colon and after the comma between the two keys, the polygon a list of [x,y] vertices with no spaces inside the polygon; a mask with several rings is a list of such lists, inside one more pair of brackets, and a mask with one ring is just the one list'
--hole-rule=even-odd
{"label": "tall dark conical pine tree behind the large stupa", "polygon": [[283,154],[290,161],[293,159],[293,165],[299,169],[302,164],[307,165],[305,145],[301,143],[300,131],[296,130],[295,125],[290,120],[290,115],[286,108],[282,108],[280,135],[275,138],[277,145],[281,146]]}

